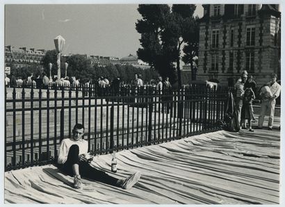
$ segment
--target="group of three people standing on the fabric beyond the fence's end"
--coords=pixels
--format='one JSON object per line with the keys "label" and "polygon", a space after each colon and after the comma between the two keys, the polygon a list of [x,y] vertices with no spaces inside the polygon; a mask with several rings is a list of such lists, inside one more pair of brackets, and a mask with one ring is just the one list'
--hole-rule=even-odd
{"label": "group of three people standing on the fabric beyond the fence's end", "polygon": [[252,101],[257,96],[261,100],[257,129],[263,128],[264,117],[267,110],[269,110],[268,130],[272,130],[276,99],[279,97],[281,90],[281,86],[276,81],[277,74],[271,74],[270,81],[262,85],[257,92],[257,83],[253,80],[253,77],[248,75],[246,71],[241,73],[241,78],[234,85],[236,92],[236,116],[240,130],[247,130],[247,121],[249,131],[254,131],[252,129],[252,122],[257,122],[257,119],[254,117]]}

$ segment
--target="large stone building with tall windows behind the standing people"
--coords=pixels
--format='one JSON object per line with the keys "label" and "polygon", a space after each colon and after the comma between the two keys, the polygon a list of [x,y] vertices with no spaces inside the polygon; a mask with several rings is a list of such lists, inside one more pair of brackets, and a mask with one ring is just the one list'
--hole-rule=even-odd
{"label": "large stone building with tall windows behind the standing people", "polygon": [[276,4],[204,4],[197,80],[232,86],[243,70],[257,85],[280,78],[281,13]]}

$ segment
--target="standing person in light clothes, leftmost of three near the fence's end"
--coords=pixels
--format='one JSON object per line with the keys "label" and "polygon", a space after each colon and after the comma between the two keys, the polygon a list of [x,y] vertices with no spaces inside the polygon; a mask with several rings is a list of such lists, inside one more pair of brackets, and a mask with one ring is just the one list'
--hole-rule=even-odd
{"label": "standing person in light clothes, leftmost of three near the fence's end", "polygon": [[[238,116],[238,124],[241,126],[241,108],[243,107],[243,93],[245,87],[245,81],[247,80],[247,72],[243,71],[241,73],[241,78],[236,81],[234,88],[236,89],[236,115]],[[244,126],[245,127],[245,126]]]}

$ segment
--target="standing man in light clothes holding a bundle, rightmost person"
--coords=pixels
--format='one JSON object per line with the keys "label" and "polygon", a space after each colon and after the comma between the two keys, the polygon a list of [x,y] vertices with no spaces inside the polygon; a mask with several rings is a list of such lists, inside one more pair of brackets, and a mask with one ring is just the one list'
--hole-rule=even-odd
{"label": "standing man in light clothes holding a bundle, rightmost person", "polygon": [[270,92],[272,93],[272,97],[270,98],[261,98],[261,109],[259,115],[259,124],[258,129],[262,129],[264,117],[266,115],[266,111],[270,110],[269,120],[268,120],[268,130],[272,130],[272,124],[275,113],[275,104],[276,100],[280,95],[281,86],[276,82],[277,74],[271,74],[271,81],[267,85],[270,85]]}

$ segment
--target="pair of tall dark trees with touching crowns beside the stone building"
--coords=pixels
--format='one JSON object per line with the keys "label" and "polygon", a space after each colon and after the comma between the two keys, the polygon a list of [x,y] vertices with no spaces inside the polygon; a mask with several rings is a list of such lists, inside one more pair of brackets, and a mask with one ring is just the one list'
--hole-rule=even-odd
{"label": "pair of tall dark trees with touching crowns beside the stone building", "polygon": [[[196,19],[193,17],[195,8],[193,4],[174,4],[171,10],[170,6],[163,4],[138,6],[138,12],[142,15],[136,23],[142,46],[137,51],[138,58],[153,66],[161,76],[169,76],[172,83],[177,81],[178,76],[180,88],[181,50],[197,38],[193,37],[197,34]],[[184,59],[188,60],[187,57]]]}

